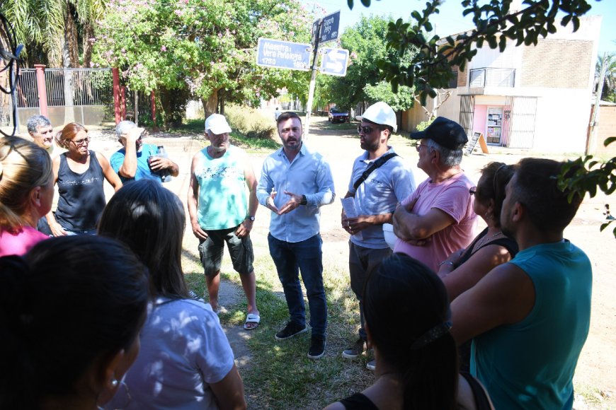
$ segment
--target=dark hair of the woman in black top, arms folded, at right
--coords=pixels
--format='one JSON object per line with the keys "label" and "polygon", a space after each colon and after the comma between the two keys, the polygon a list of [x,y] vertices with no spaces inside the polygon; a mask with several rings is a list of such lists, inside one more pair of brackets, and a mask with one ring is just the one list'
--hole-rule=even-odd
{"label": "dark hair of the woman in black top, arms folded, at right", "polygon": [[492,162],[481,170],[480,184],[475,194],[476,201],[484,206],[490,204],[490,199],[494,201],[494,225],[501,226],[501,209],[505,200],[505,187],[513,177],[513,166],[504,163]]}

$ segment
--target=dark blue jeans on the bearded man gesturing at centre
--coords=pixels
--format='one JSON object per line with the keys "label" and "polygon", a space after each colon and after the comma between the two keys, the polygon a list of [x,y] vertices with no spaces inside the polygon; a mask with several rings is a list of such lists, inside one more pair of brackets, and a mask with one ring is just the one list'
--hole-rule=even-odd
{"label": "dark blue jeans on the bearded man gesturing at centre", "polygon": [[270,255],[283,284],[291,321],[306,325],[306,307],[300,285],[300,271],[306,288],[310,308],[312,336],[325,337],[327,327],[327,301],[323,287],[323,252],[321,235],[302,242],[285,242],[268,234]]}

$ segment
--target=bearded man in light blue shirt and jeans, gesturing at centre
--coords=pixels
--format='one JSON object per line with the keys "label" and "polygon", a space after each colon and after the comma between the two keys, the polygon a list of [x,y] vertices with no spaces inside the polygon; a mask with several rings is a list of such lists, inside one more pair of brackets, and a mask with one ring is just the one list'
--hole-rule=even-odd
{"label": "bearded man in light blue shirt and jeans, gesturing at centre", "polygon": [[327,327],[319,207],[331,204],[336,194],[329,164],[302,143],[300,117],[295,112],[284,112],[277,124],[283,148],[263,162],[257,187],[259,203],[272,211],[270,255],[283,284],[290,315],[275,338],[285,340],[307,330],[301,271],[312,327],[308,358],[318,359],[325,354]]}

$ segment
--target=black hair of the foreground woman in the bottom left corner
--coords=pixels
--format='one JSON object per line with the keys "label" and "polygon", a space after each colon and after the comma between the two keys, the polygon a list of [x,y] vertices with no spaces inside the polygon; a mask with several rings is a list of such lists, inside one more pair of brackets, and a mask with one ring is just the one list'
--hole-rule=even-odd
{"label": "black hair of the foreground woman in the bottom left corner", "polygon": [[76,385],[135,342],[149,300],[145,266],[115,240],[64,236],[0,258],[0,281],[0,408],[96,397]]}

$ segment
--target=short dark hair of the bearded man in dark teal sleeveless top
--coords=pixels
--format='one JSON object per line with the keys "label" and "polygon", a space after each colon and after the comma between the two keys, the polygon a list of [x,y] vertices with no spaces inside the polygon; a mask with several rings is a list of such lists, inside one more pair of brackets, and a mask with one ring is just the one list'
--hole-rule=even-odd
{"label": "short dark hair of the bearded man in dark teal sleeveless top", "polygon": [[[557,177],[564,163],[544,158],[523,158],[515,165],[515,187],[511,189],[515,201],[525,207],[533,225],[540,230],[561,232],[576,216],[582,202],[574,194],[569,202],[569,190],[562,191]],[[575,169],[568,173],[573,174]]]}

